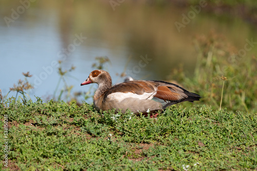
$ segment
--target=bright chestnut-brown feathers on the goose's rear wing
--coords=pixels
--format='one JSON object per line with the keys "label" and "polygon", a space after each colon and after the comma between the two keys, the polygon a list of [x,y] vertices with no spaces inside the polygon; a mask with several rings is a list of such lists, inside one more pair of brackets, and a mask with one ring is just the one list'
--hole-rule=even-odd
{"label": "bright chestnut-brown feathers on the goose's rear wing", "polygon": [[[174,91],[171,91],[170,89],[172,89]],[[179,102],[179,101],[184,100],[188,96],[177,87],[169,87],[168,88],[167,86],[159,86],[157,89],[157,93],[154,97],[163,99],[164,101],[168,100],[168,101]]]}

